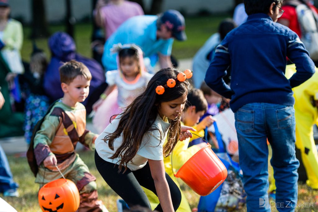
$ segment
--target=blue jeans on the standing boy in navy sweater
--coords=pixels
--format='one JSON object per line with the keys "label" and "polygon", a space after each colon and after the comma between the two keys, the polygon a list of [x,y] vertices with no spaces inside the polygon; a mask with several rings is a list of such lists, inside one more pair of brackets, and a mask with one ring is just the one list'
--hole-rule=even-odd
{"label": "blue jeans on the standing boy in navy sweater", "polygon": [[[295,156],[295,111],[293,106],[250,103],[235,112],[239,163],[247,194],[247,211],[294,211],[298,195],[299,161]],[[268,201],[268,147],[276,181],[276,203]]]}

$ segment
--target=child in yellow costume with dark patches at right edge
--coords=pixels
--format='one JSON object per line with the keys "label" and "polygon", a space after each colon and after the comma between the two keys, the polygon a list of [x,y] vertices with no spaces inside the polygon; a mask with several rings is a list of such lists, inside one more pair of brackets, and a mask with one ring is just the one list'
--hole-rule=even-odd
{"label": "child in yellow costume with dark patches at right edge", "polygon": [[[295,65],[287,65],[285,76],[289,79],[296,72]],[[318,124],[318,72],[303,84],[294,87],[296,147],[300,149],[301,159],[306,169],[306,184],[318,189],[318,154],[314,141],[313,125]],[[275,190],[275,181],[270,190]]]}

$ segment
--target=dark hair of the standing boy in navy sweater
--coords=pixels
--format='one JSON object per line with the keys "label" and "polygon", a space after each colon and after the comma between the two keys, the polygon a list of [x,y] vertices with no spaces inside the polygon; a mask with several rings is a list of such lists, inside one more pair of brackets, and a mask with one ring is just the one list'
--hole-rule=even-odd
{"label": "dark hair of the standing boy in navy sweater", "polygon": [[278,6],[283,3],[283,0],[244,0],[245,12],[247,15],[255,13],[267,14],[273,2],[275,6]]}

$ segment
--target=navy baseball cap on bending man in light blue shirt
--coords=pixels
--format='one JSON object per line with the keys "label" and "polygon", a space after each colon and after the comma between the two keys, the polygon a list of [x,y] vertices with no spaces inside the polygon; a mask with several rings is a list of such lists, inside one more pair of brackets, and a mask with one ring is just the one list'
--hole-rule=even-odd
{"label": "navy baseball cap on bending man in light blue shirt", "polygon": [[185,21],[183,15],[177,10],[167,10],[161,17],[161,23],[165,24],[167,28],[172,31],[172,36],[177,40],[186,40]]}

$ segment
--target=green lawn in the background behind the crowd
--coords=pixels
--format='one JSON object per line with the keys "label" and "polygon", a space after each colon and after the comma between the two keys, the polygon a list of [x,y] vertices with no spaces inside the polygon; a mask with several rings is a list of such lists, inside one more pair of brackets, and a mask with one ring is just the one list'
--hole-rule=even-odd
{"label": "green lawn in the background behind the crowd", "polygon": [[[204,44],[204,42],[215,32],[218,31],[219,23],[228,15],[225,16],[205,16],[205,17],[188,17],[186,18],[186,34],[188,40],[184,42],[175,41],[172,48],[172,54],[178,58],[192,58],[197,50]],[[86,56],[92,57],[91,52],[91,35],[92,24],[76,24],[75,25],[75,42],[77,51]],[[65,31],[64,25],[52,25],[49,31],[53,34],[56,31]],[[24,27],[24,43],[21,55],[24,61],[30,61],[30,54],[32,52],[32,43],[30,40],[31,28]],[[45,50],[48,58],[50,51],[48,49],[47,38],[36,39],[38,48]]]}

